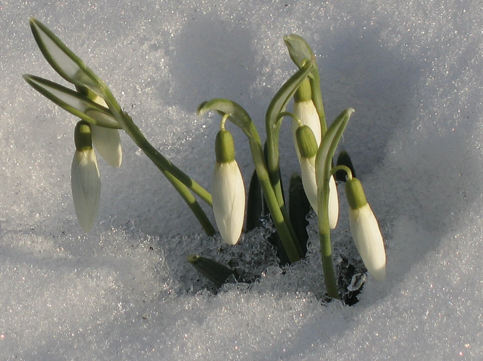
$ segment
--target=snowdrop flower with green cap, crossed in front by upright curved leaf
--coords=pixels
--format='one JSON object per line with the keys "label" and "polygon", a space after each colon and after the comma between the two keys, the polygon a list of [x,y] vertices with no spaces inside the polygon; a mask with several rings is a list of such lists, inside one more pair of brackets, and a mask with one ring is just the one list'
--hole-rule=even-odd
{"label": "snowdrop flower with green cap, crossed in front by upright curved leaf", "polygon": [[[302,185],[305,195],[315,213],[317,205],[317,181],[315,172],[315,156],[317,155],[317,143],[314,132],[307,125],[299,126],[295,132],[297,149],[299,150],[300,171],[302,173]],[[339,218],[339,196],[334,176],[329,180],[329,227],[334,229]]]}

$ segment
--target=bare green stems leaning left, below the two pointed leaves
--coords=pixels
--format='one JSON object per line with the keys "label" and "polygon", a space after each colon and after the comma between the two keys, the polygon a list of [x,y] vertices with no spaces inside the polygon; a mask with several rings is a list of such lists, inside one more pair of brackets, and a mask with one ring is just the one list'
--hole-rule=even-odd
{"label": "bare green stems leaning left, below the two pointed leaves", "polygon": [[105,87],[103,90],[106,96],[106,103],[109,105],[113,115],[122,126],[124,131],[131,137],[136,145],[143,150],[148,158],[151,159],[151,161],[164,174],[164,176],[166,176],[176,191],[178,191],[180,196],[196,216],[205,233],[208,236],[212,236],[215,233],[215,230],[206,216],[206,213],[201,209],[198,202],[189,190],[197,194],[210,206],[212,205],[211,195],[203,187],[194,182],[194,180],[192,180],[188,175],[182,172],[178,167],[167,160],[159,151],[157,151],[151,145],[151,143],[149,143],[136,124],[134,124],[132,119],[122,111],[111,91],[107,87]]}

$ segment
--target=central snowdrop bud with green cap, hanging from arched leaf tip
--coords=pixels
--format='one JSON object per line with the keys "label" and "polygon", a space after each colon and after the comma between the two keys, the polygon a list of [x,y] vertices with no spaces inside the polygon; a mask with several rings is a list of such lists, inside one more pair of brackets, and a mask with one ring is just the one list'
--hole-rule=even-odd
{"label": "central snowdrop bud with green cap, hanging from arched leaf tip", "polygon": [[216,163],[213,172],[213,213],[224,242],[238,242],[245,216],[245,186],[235,160],[233,138],[223,129],[216,134]]}

